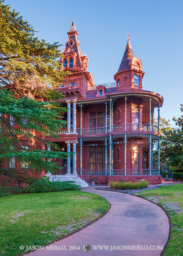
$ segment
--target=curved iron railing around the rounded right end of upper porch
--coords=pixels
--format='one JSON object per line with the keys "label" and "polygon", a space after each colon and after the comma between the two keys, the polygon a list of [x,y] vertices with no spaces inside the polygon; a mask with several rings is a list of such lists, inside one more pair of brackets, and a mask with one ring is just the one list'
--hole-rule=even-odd
{"label": "curved iron railing around the rounded right end of upper porch", "polygon": [[[150,124],[128,124],[127,123],[127,131],[150,131]],[[113,132],[123,132],[125,131],[125,124],[113,124],[112,125]],[[159,128],[155,125],[151,124],[152,132],[159,132]]]}

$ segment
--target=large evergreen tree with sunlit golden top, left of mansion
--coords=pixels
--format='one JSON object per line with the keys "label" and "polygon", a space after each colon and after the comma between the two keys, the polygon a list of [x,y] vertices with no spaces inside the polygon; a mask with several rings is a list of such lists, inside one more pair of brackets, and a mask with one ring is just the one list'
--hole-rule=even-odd
{"label": "large evergreen tree with sunlit golden top, left of mansion", "polygon": [[[55,102],[63,95],[54,90],[67,76],[58,61],[63,55],[58,43],[39,40],[35,33],[32,25],[0,0],[0,180],[8,177],[10,183],[25,181],[30,176],[26,167],[33,175],[55,172],[59,169],[55,159],[70,155],[45,139],[48,135],[58,140],[56,134],[65,125],[59,117],[67,108]],[[51,151],[38,149],[39,143]],[[12,168],[4,168],[9,161]]]}

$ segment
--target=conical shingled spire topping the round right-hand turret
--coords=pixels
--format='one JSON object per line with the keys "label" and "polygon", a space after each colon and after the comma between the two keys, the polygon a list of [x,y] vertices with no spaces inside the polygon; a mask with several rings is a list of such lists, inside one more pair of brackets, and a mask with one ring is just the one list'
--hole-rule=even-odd
{"label": "conical shingled spire topping the round right-hand turret", "polygon": [[121,60],[121,64],[120,67],[118,69],[118,72],[124,69],[129,69],[130,67],[128,66],[128,63],[130,60],[132,60],[133,58],[135,58],[134,53],[132,51],[132,47],[130,44],[130,35],[127,34],[128,40],[127,40],[127,46],[123,55],[123,58]]}

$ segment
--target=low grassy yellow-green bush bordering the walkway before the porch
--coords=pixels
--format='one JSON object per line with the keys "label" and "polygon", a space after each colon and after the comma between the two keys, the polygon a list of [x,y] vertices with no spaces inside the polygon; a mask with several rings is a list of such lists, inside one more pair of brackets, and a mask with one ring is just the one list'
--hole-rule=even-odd
{"label": "low grassy yellow-green bush bordering the walkway before the porch", "polygon": [[128,182],[128,181],[111,181],[110,182],[110,186],[113,189],[141,189],[141,188],[147,188],[147,186],[149,185],[149,182],[142,180],[142,181],[138,181],[138,182]]}

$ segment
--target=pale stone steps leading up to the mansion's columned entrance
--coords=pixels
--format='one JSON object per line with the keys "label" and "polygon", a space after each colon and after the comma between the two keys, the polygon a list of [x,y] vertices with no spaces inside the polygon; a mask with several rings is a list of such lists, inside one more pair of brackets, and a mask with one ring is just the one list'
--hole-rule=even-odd
{"label": "pale stone steps leading up to the mansion's columned entrance", "polygon": [[72,180],[76,182],[76,185],[79,185],[80,187],[89,187],[90,184],[88,184],[86,181],[82,180],[77,176],[77,174],[65,174],[65,175],[51,175],[51,173],[46,173],[45,176],[49,178],[50,181],[67,181]]}

